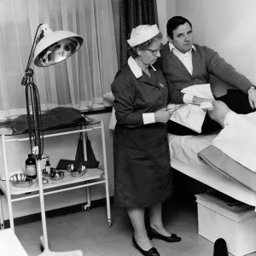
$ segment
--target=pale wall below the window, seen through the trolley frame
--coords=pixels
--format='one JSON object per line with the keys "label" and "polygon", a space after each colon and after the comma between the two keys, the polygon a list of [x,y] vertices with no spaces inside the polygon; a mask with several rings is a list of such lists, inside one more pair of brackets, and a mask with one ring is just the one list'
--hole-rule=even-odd
{"label": "pale wall below the window, seen through the trolley frame", "polygon": [[[113,195],[113,131],[108,130],[108,122],[110,113],[98,113],[89,115],[91,118],[103,119],[105,124],[105,136],[108,158],[108,176],[110,195]],[[88,133],[91,146],[96,155],[96,159],[100,161],[100,167],[103,165],[102,159],[102,137],[101,130],[90,131]],[[74,160],[76,154],[79,134],[68,135],[65,137],[50,137],[44,139],[44,153],[49,154],[49,161],[52,167],[55,167],[58,161],[63,159]],[[8,162],[9,171],[13,172],[20,167],[25,167],[25,160],[29,153],[29,143],[8,143]],[[0,154],[2,161],[2,150]],[[0,173],[3,173],[3,165],[0,165]],[[99,184],[91,187],[91,200],[105,198],[105,186]],[[45,207],[47,210],[57,209],[76,205],[86,201],[85,188],[74,189],[61,192],[54,195],[45,196]],[[32,198],[26,201],[17,201],[13,204],[14,217],[26,216],[32,213],[40,212],[39,198]],[[9,218],[8,207],[5,196],[3,197],[3,217]]]}

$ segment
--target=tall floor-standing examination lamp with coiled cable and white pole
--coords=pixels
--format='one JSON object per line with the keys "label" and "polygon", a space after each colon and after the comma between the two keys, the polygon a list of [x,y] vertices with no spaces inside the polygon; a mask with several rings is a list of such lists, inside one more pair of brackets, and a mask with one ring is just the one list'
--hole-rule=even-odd
{"label": "tall floor-standing examination lamp with coiled cable and white pole", "polygon": [[[31,65],[33,60],[34,64],[38,67],[49,67],[58,62],[64,61],[81,47],[83,41],[83,38],[73,32],[53,32],[47,24],[40,24],[33,39],[32,49],[26,65],[26,71],[21,81],[21,85],[25,86],[27,124],[31,151],[33,157],[38,160],[38,187],[43,225],[43,237],[41,236],[40,239],[43,244],[42,247],[44,247],[44,253],[40,254],[42,256],[83,256],[83,253],[79,250],[65,253],[54,253],[49,250],[41,172],[41,158],[44,151],[43,123],[41,119],[38,88],[33,81],[33,70]],[[30,114],[30,102],[32,106],[32,115]]]}

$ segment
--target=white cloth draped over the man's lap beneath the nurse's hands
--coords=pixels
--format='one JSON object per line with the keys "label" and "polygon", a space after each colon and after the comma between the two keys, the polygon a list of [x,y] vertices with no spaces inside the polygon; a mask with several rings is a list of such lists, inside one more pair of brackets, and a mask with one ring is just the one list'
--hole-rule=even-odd
{"label": "white cloth draped over the man's lap beneath the nurse's hands", "polygon": [[[182,90],[183,93],[191,96],[214,100],[210,84],[192,85]],[[177,108],[177,104],[169,104],[168,108]],[[173,112],[171,120],[188,127],[189,129],[201,133],[201,126],[206,117],[206,111],[193,104],[184,105]]]}

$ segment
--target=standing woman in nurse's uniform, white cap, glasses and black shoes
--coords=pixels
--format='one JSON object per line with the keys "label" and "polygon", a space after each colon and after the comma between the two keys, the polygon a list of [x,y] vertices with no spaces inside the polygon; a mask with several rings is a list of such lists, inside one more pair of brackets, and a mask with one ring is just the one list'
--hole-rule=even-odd
{"label": "standing woman in nurse's uniform, white cap, glasses and black shoes", "polygon": [[[134,246],[148,256],[160,255],[152,238],[181,241],[166,230],[161,212],[162,201],[172,195],[166,130],[172,112],[166,107],[171,101],[183,103],[154,66],[160,57],[161,39],[156,25],[134,28],[127,41],[130,57],[111,85],[117,119],[113,135],[115,203],[128,212]],[[150,219],[147,230],[145,208]]]}

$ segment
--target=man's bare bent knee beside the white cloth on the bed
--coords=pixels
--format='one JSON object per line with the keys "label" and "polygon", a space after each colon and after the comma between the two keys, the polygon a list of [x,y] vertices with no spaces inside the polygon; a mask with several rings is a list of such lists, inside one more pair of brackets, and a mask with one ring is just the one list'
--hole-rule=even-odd
{"label": "man's bare bent knee beside the white cloth on the bed", "polygon": [[211,119],[218,122],[222,127],[224,127],[224,119],[231,110],[230,108],[224,103],[220,101],[212,102],[212,110],[208,110],[208,114]]}

